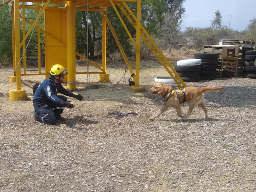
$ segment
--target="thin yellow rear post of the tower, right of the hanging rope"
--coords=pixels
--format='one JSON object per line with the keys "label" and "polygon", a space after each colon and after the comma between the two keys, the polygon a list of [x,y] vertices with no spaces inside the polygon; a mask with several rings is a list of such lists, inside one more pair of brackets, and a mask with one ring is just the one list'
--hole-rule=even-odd
{"label": "thin yellow rear post of the tower, right of the hanging rope", "polygon": [[107,14],[106,11],[102,12],[102,69],[104,74],[99,74],[99,80],[104,82],[109,82],[109,74],[106,74],[106,70],[107,70],[107,63],[106,63],[107,21],[105,18],[106,14]]}

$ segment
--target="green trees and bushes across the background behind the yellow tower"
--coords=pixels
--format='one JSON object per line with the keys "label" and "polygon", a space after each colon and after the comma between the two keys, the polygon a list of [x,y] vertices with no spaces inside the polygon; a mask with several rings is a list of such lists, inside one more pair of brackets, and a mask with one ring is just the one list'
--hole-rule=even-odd
{"label": "green trees and bushes across the background behind the yellow tower", "polygon": [[[141,23],[147,32],[159,41],[161,49],[172,49],[173,45],[185,44],[188,48],[202,50],[204,45],[216,45],[221,39],[241,39],[246,41],[256,41],[256,19],[249,22],[246,30],[236,31],[221,25],[221,13],[215,12],[215,18],[210,27],[206,28],[187,28],[184,32],[180,31],[182,19],[185,13],[183,3],[185,0],[142,0]],[[3,0],[0,0],[0,3]],[[136,15],[137,4],[127,3],[128,7]],[[62,7],[64,4],[61,5]],[[132,38],[136,38],[136,30],[128,21],[125,15],[116,6],[125,26]],[[25,31],[31,27],[37,17],[37,10],[26,9],[25,17],[30,18],[25,22]],[[135,54],[135,47],[124,26],[117,17],[113,7],[108,7],[107,16],[112,23],[114,31],[118,37],[127,56]],[[44,29],[44,15],[41,16],[40,27]],[[88,19],[88,20],[87,20]],[[29,22],[28,22],[29,21]],[[11,8],[10,4],[0,7],[0,63],[12,63],[12,29],[11,29]],[[20,23],[22,25],[22,23]],[[22,30],[21,30],[22,35]],[[30,36],[29,36],[30,38]],[[29,41],[26,40],[26,44]],[[44,33],[40,33],[41,49],[44,49]],[[37,49],[37,29],[31,37],[30,44]],[[145,48],[141,41],[141,51],[149,54],[149,49]],[[21,49],[22,51],[22,49]],[[76,51],[90,60],[102,57],[102,12],[76,11]],[[107,57],[112,59],[116,54],[119,55],[117,43],[110,28],[107,27]],[[79,57],[77,57],[79,59]]]}

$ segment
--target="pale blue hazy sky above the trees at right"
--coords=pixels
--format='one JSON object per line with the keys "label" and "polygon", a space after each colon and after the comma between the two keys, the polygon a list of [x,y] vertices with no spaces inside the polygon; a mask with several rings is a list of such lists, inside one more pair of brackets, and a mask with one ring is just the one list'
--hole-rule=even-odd
{"label": "pale blue hazy sky above the trees at right", "polygon": [[233,30],[245,30],[249,20],[256,19],[256,0],[186,0],[183,7],[186,12],[182,30],[210,27],[217,10],[222,16],[222,26]]}

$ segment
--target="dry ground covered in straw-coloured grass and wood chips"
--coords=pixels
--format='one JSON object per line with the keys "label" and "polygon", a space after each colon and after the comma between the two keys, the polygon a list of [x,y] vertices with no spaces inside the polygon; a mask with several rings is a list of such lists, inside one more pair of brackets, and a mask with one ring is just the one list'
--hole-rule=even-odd
{"label": "dry ground covered in straw-coloured grass and wood chips", "polygon": [[[123,83],[122,61],[108,67],[112,83],[97,83],[98,75],[90,83],[86,75],[77,76],[75,93],[86,101],[74,99],[76,108],[63,113],[67,121],[54,126],[33,120],[32,86],[44,77],[22,78],[26,101],[9,101],[15,83],[0,90],[0,191],[256,190],[255,79],[187,82],[226,87],[206,94],[211,118],[195,108],[182,121],[171,109],[150,121],[161,104],[147,90],[155,77],[167,75],[163,67],[155,58],[141,61],[142,93],[131,91],[128,73]],[[79,64],[78,70],[86,68]],[[1,70],[0,86],[10,73]],[[138,116],[108,114],[116,111]]]}

